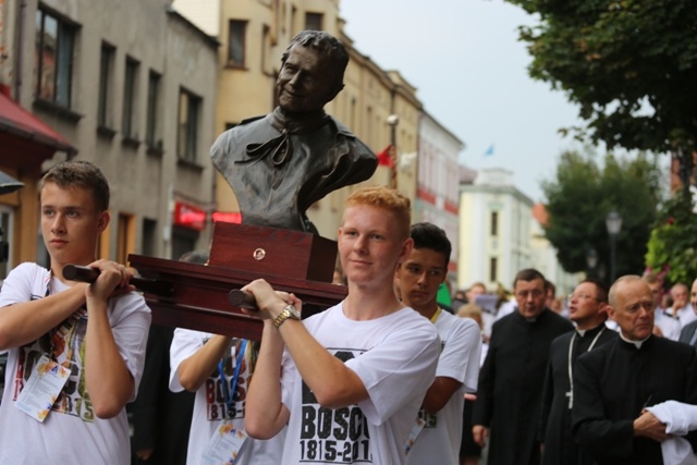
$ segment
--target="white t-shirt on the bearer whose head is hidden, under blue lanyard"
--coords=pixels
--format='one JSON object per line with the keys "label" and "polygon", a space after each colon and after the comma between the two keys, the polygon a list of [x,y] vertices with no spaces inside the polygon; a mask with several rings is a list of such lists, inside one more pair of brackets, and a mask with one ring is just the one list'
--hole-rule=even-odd
{"label": "white t-shirt on the bearer whose head is hidden, under blue lanyard", "polygon": [[[170,347],[170,390],[181,392],[184,390],[179,382],[179,366],[183,360],[194,355],[212,336],[209,332],[200,332],[178,328],[174,330],[174,339]],[[228,419],[237,428],[244,428],[244,408],[249,378],[253,371],[252,341],[248,341],[242,365],[237,375],[236,393],[232,397],[233,408],[227,408],[225,393],[222,390],[220,372],[216,369],[204,384],[196,391],[194,401],[194,414],[188,433],[187,465],[199,465],[210,438],[222,423]],[[228,400],[230,400],[235,367],[237,364],[242,341],[234,339],[228,354],[223,357],[223,374],[228,386]],[[285,429],[274,438],[267,441],[247,438],[242,445],[235,465],[279,465],[282,463],[282,449]]]}

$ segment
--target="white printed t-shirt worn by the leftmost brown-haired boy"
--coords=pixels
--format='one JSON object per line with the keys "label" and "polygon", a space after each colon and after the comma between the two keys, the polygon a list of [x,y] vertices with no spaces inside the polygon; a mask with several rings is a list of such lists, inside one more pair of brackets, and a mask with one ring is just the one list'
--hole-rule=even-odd
{"label": "white printed t-shirt worn by the leftmost brown-haired boy", "polygon": [[[4,280],[0,311],[8,305],[36,301],[66,289],[49,270],[36,264],[22,264]],[[143,297],[132,292],[109,301],[109,322],[119,353],[135,380],[133,401],[143,376],[150,310]],[[0,464],[131,463],[125,408],[113,418],[97,418],[85,391],[86,329],[87,309],[83,307],[37,341],[8,351],[5,389],[0,404]],[[44,423],[15,407],[16,397],[41,354],[51,355],[72,370]]]}

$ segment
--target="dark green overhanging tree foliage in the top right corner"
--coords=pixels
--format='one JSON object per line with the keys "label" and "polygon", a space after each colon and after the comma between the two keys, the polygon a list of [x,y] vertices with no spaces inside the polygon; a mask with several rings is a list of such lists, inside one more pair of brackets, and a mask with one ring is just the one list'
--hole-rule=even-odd
{"label": "dark green overhanging tree foliage in the top right corner", "polygon": [[697,1],[506,1],[541,20],[519,29],[529,74],[579,105],[592,140],[697,149]]}

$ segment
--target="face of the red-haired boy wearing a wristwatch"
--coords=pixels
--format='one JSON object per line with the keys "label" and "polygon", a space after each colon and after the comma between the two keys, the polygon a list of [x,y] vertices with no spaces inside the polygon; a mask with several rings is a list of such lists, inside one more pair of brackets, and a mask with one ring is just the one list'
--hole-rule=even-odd
{"label": "face of the red-haired boy wearing a wristwatch", "polygon": [[392,286],[398,261],[412,249],[412,240],[400,237],[394,217],[383,208],[367,205],[344,211],[338,244],[350,285]]}

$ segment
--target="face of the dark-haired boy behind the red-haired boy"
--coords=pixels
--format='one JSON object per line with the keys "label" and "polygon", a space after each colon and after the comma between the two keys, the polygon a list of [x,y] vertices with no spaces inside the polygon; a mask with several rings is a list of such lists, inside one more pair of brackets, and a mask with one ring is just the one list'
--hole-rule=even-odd
{"label": "face of the dark-haired boy behind the red-haired boy", "polygon": [[402,301],[424,316],[438,308],[438,289],[445,280],[445,257],[430,248],[414,248],[399,265],[396,276]]}

